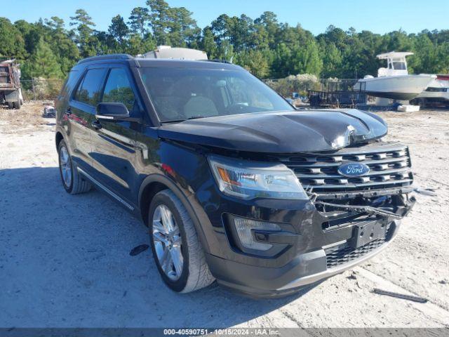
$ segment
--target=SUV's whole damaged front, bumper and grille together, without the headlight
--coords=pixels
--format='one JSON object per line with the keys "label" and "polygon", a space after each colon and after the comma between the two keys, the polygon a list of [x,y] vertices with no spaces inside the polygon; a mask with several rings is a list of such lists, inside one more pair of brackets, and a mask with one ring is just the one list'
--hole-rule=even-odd
{"label": "SUV's whole damaged front, bumper and grille together, without the headlight", "polygon": [[[306,199],[228,197],[215,204],[216,211],[209,197],[201,200],[209,218],[220,218],[223,226],[215,222],[221,244],[208,254],[213,274],[220,284],[257,296],[295,291],[371,258],[396,237],[401,218],[415,204],[410,154],[398,143],[376,140],[322,152],[237,156],[253,169],[267,161],[283,164],[307,194]],[[200,199],[212,194],[197,193]],[[236,219],[252,226],[245,237]],[[242,242],[268,248],[248,249]]]}

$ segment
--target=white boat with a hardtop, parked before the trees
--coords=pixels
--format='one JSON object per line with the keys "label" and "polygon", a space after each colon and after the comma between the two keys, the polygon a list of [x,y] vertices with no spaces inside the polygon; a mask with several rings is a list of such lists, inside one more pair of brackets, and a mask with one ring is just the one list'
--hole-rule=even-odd
{"label": "white boat with a hardtop, parked before the trees", "polygon": [[422,93],[435,75],[409,75],[406,57],[413,53],[395,52],[377,55],[380,60],[387,60],[387,68],[379,68],[377,77],[367,75],[359,79],[354,90],[366,91],[368,95],[394,100],[411,100]]}

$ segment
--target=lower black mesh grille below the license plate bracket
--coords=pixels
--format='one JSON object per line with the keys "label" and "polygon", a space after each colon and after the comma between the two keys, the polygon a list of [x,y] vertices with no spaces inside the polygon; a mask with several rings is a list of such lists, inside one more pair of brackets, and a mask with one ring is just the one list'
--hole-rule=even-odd
{"label": "lower black mesh grille below the license plate bracket", "polygon": [[326,265],[328,268],[333,268],[338,265],[349,263],[352,260],[356,260],[357,258],[361,258],[367,253],[370,253],[370,251],[374,251],[384,243],[385,239],[377,239],[358,248],[352,248],[351,246],[331,247],[326,249]]}

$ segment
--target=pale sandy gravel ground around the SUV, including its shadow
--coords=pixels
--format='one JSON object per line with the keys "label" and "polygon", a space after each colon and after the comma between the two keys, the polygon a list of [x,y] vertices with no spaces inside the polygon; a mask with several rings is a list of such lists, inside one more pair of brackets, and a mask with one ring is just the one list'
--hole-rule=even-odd
{"label": "pale sandy gravel ground around the SUV, including its shadow", "polygon": [[[41,103],[0,110],[0,326],[449,326],[449,112],[381,113],[389,140],[410,145],[417,205],[396,241],[309,291],[252,300],[213,284],[189,294],[163,285],[146,227],[93,190],[60,183],[54,119]],[[414,303],[374,288],[422,296]]]}

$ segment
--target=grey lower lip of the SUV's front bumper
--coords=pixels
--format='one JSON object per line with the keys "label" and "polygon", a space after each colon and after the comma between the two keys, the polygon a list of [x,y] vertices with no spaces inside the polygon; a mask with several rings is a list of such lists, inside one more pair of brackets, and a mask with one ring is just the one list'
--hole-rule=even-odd
{"label": "grey lower lip of the SUV's front bumper", "polygon": [[305,286],[340,274],[377,255],[394,240],[400,224],[400,220],[391,221],[387,237],[381,244],[356,255],[354,255],[356,249],[349,251],[348,254],[352,253],[353,258],[340,256],[342,263],[329,263],[329,259],[337,249],[340,249],[340,246],[344,247],[345,242],[337,242],[323,246],[321,249],[301,253],[282,267],[247,265],[210,254],[206,257],[217,282],[227,288],[251,297],[288,296]]}

